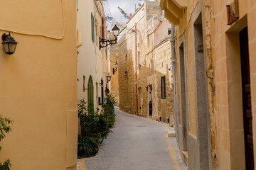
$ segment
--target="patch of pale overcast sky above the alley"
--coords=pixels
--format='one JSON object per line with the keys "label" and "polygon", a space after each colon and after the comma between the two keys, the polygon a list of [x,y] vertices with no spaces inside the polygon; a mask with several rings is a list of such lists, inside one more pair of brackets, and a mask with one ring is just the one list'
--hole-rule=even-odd
{"label": "patch of pale overcast sky above the alley", "polygon": [[[110,12],[114,19],[118,22],[121,21],[122,13],[117,8],[120,6],[129,16],[129,13],[134,13],[135,4],[138,7],[138,4],[143,4],[144,1],[139,0],[108,0],[110,4]],[[126,22],[127,20],[122,17],[122,22]]]}

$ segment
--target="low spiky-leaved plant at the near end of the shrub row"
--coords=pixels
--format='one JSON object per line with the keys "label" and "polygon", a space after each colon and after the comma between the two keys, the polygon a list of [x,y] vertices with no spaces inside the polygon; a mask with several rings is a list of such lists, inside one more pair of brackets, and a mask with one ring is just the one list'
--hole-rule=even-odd
{"label": "low spiky-leaved plant at the near end of the shrub row", "polygon": [[92,157],[98,151],[98,143],[94,137],[82,137],[78,135],[78,157]]}

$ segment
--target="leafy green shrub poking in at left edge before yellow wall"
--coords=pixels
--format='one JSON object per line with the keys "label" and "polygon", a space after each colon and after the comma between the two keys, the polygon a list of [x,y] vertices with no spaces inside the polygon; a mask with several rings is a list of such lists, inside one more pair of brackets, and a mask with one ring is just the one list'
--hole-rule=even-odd
{"label": "leafy green shrub poking in at left edge before yellow wall", "polygon": [[[12,120],[9,118],[4,118],[3,115],[0,115],[0,142],[1,140],[6,137],[6,134],[11,132],[11,124],[13,123]],[[1,147],[0,147],[1,151]],[[6,159],[4,163],[0,162],[0,170],[10,170],[11,168],[11,161],[10,159]]]}

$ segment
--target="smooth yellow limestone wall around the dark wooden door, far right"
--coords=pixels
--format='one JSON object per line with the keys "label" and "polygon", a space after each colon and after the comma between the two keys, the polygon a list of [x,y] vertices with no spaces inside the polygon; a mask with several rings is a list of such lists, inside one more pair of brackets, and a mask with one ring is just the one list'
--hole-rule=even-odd
{"label": "smooth yellow limestone wall around the dark wooden door, far right", "polygon": [[[252,100],[252,131],[255,146],[255,16],[256,2],[239,1],[239,20],[227,25],[226,5],[233,1],[213,3],[213,50],[216,60],[216,127],[215,169],[245,169],[244,132],[242,122],[242,83],[240,71],[239,31],[248,26],[250,81]],[[247,19],[247,21],[246,21]],[[243,20],[243,21],[242,21]],[[238,42],[238,44],[235,44]],[[237,45],[237,46],[235,46]],[[235,97],[234,97],[235,95]],[[254,157],[255,158],[255,157]],[[256,163],[256,158],[255,158]]]}

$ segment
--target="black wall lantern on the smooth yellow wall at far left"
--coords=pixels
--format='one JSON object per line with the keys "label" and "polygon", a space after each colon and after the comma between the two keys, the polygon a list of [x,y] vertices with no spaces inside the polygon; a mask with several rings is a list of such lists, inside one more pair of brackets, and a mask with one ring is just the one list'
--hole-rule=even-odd
{"label": "black wall lantern on the smooth yellow wall at far left", "polygon": [[16,40],[11,37],[11,33],[9,33],[9,35],[6,35],[6,33],[4,33],[1,38],[3,40],[2,45],[4,47],[4,52],[6,52],[7,55],[14,54],[18,42],[16,42]]}

